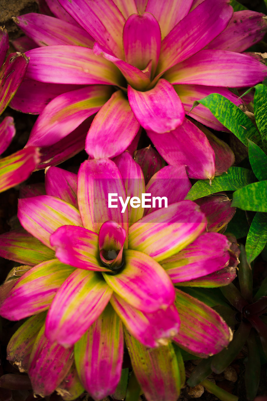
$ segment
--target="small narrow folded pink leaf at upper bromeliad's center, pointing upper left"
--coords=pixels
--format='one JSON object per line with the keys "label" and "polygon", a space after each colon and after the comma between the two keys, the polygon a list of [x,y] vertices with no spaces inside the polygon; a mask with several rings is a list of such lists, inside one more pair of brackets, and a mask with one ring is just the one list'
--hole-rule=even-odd
{"label": "small narrow folded pink leaf at upper bromeliad's center, pointing upper left", "polygon": [[150,84],[150,79],[148,78],[148,76],[139,68],[134,67],[129,63],[126,63],[126,61],[118,59],[107,49],[105,49],[105,47],[99,45],[97,42],[95,42],[94,44],[93,53],[97,56],[104,57],[108,61],[111,61],[114,64],[114,67],[118,67],[118,69],[121,71],[127,83],[129,85],[132,85],[136,89],[145,89]]}

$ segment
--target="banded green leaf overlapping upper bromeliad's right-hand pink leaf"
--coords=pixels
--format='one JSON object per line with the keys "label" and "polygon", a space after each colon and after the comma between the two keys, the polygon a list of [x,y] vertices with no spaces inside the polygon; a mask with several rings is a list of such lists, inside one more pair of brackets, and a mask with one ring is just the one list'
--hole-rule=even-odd
{"label": "banded green leaf overlapping upper bromeliad's right-hand pink leaf", "polygon": [[249,117],[226,97],[219,93],[198,100],[198,103],[208,107],[212,114],[247,146],[247,139],[261,143],[261,136]]}

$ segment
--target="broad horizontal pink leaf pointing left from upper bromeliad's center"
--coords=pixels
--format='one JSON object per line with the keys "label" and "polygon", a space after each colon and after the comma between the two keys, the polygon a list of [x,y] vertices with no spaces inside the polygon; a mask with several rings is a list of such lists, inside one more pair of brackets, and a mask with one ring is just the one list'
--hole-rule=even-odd
{"label": "broad horizontal pink leaf pointing left from upper bromeliad's center", "polygon": [[53,45],[26,52],[26,77],[48,83],[120,85],[120,73],[110,61],[81,46]]}

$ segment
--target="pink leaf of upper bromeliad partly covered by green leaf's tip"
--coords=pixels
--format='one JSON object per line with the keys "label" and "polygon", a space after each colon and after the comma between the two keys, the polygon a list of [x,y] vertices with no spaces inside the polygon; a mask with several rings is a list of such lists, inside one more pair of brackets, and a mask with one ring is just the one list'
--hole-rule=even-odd
{"label": "pink leaf of upper bromeliad partly covered by green leaf's tip", "polygon": [[174,85],[174,89],[178,93],[178,96],[184,105],[186,114],[205,126],[213,128],[217,131],[225,131],[226,128],[216,119],[216,117],[214,117],[212,112],[202,104],[199,104],[198,107],[194,107],[194,109],[192,109],[194,101],[202,99],[202,97],[206,97],[210,95],[210,93],[219,93],[220,95],[223,95],[227,99],[231,100],[231,102],[235,103],[237,106],[243,102],[242,99],[239,99],[238,96],[234,95],[231,91],[229,91],[229,89],[220,88],[217,86]]}

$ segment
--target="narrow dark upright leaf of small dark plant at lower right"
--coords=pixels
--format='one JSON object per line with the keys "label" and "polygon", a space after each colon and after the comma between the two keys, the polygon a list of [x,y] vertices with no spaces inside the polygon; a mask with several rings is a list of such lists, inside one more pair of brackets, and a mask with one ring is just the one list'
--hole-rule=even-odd
{"label": "narrow dark upright leaf of small dark plant at lower right", "polygon": [[245,247],[243,244],[239,245],[240,247],[240,263],[238,265],[238,280],[240,286],[240,292],[243,298],[247,302],[252,302],[252,287],[253,287],[253,279],[252,279],[252,270],[247,261]]}

